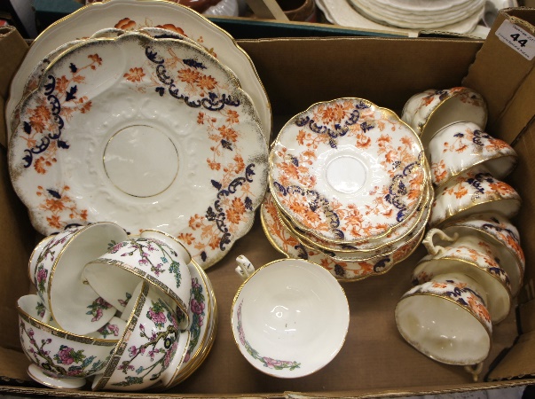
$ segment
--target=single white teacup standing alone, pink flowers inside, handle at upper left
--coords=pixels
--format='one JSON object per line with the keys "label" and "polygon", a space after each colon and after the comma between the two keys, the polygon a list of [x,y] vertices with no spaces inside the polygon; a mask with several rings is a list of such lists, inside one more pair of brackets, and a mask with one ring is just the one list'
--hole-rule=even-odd
{"label": "single white teacup standing alone, pink flowers inside, handle at upper left", "polygon": [[237,261],[247,279],[232,301],[232,333],[248,362],[279,378],[303,377],[331,362],[350,321],[334,276],[302,259],[280,259],[258,270],[243,256]]}

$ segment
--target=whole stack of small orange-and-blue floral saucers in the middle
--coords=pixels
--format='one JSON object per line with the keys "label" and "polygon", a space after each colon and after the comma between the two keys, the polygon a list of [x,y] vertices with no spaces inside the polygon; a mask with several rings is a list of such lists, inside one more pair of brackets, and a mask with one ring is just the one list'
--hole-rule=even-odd
{"label": "whole stack of small orange-and-blue floral saucers in the middle", "polygon": [[361,98],[311,106],[271,146],[264,232],[341,280],[389,270],[421,242],[433,188],[420,138]]}

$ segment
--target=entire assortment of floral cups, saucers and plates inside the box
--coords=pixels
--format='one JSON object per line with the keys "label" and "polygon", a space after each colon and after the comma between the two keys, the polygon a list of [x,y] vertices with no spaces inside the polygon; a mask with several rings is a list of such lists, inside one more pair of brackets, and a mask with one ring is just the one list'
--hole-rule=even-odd
{"label": "entire assortment of floral cups, saucers and plates inside the box", "polygon": [[[135,23],[147,12],[158,25]],[[336,98],[268,147],[271,107],[244,54],[193,10],[136,0],[90,4],[28,51],[6,116],[12,184],[45,236],[28,262],[35,293],[17,303],[30,377],[126,391],[187,379],[216,336],[205,270],[257,208],[284,255],[257,269],[237,259],[232,333],[257,370],[297,378],[331,362],[349,328],[342,285],[422,241],[397,329],[438,362],[483,362],[524,267],[509,221],[521,200],[501,180],[516,154],[483,131],[484,99],[426,90],[399,117]]]}

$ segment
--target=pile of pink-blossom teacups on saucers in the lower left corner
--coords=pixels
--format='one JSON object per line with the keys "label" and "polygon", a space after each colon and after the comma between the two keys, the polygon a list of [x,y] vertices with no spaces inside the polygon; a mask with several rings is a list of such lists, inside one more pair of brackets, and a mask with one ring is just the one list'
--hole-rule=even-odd
{"label": "pile of pink-blossom teacups on saucers in the lower left corner", "polygon": [[30,257],[36,294],[18,302],[28,374],[51,387],[168,388],[204,360],[216,307],[204,271],[162,231],[72,227]]}

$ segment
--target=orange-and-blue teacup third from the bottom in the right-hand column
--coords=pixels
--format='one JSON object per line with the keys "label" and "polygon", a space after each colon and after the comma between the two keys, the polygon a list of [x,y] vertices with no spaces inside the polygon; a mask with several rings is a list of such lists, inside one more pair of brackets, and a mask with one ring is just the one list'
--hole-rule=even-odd
{"label": "orange-and-blue teacup third from the bottom in the right-hand column", "polygon": [[[474,235],[492,244],[501,267],[511,280],[511,293],[515,296],[522,286],[525,258],[516,227],[500,214],[472,215],[442,228],[446,234]],[[440,242],[437,242],[440,244]]]}

